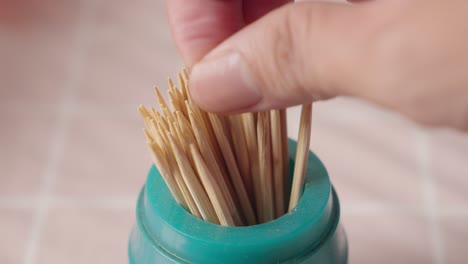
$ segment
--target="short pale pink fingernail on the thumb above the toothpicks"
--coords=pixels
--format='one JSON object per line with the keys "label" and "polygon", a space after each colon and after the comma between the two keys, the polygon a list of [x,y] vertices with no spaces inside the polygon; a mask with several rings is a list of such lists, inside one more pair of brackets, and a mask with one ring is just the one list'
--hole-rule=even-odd
{"label": "short pale pink fingernail on the thumb above the toothpicks", "polygon": [[232,51],[196,64],[190,74],[190,93],[195,103],[212,112],[243,110],[262,98],[249,65]]}

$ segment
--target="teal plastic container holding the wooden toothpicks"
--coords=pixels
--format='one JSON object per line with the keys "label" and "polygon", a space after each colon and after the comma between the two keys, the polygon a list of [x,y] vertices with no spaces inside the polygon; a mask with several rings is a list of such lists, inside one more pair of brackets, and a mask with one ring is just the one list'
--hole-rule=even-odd
{"label": "teal plastic container holding the wooden toothpicks", "polygon": [[[289,141],[291,175],[296,143]],[[226,227],[186,212],[152,167],[137,205],[130,264],[320,263],[344,264],[348,246],[340,205],[325,167],[313,154],[297,207],[264,224]]]}

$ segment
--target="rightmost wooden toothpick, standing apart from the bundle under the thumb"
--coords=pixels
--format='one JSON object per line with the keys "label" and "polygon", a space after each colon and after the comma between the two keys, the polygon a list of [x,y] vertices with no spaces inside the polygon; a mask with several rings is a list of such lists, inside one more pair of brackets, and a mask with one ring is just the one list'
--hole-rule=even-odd
{"label": "rightmost wooden toothpick, standing apart from the bundle under the thumb", "polygon": [[309,145],[311,132],[312,104],[302,106],[299,126],[299,136],[297,139],[296,165],[294,166],[294,176],[289,199],[289,209],[291,211],[299,203],[304,187],[307,160],[309,159]]}

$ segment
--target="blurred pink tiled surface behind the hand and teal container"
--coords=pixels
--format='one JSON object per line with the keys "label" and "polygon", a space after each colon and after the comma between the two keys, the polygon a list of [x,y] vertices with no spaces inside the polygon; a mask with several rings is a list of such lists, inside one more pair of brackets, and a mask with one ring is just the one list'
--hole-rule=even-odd
{"label": "blurred pink tiled surface behind the hand and teal container", "polygon": [[[162,0],[0,0],[0,263],[127,263],[151,165],[137,106],[182,66]],[[351,264],[467,263],[468,135],[335,99],[311,148]]]}

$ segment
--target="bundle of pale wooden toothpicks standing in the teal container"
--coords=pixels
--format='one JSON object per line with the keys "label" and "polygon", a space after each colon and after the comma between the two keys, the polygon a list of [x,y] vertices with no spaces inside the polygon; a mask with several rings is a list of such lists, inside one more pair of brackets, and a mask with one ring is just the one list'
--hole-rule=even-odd
{"label": "bundle of pale wooden toothpicks standing in the teal container", "polygon": [[307,167],[312,105],[303,105],[295,168],[289,173],[286,110],[219,115],[194,104],[186,70],[169,79],[167,103],[140,106],[152,160],[174,199],[208,222],[272,221],[299,202]]}

